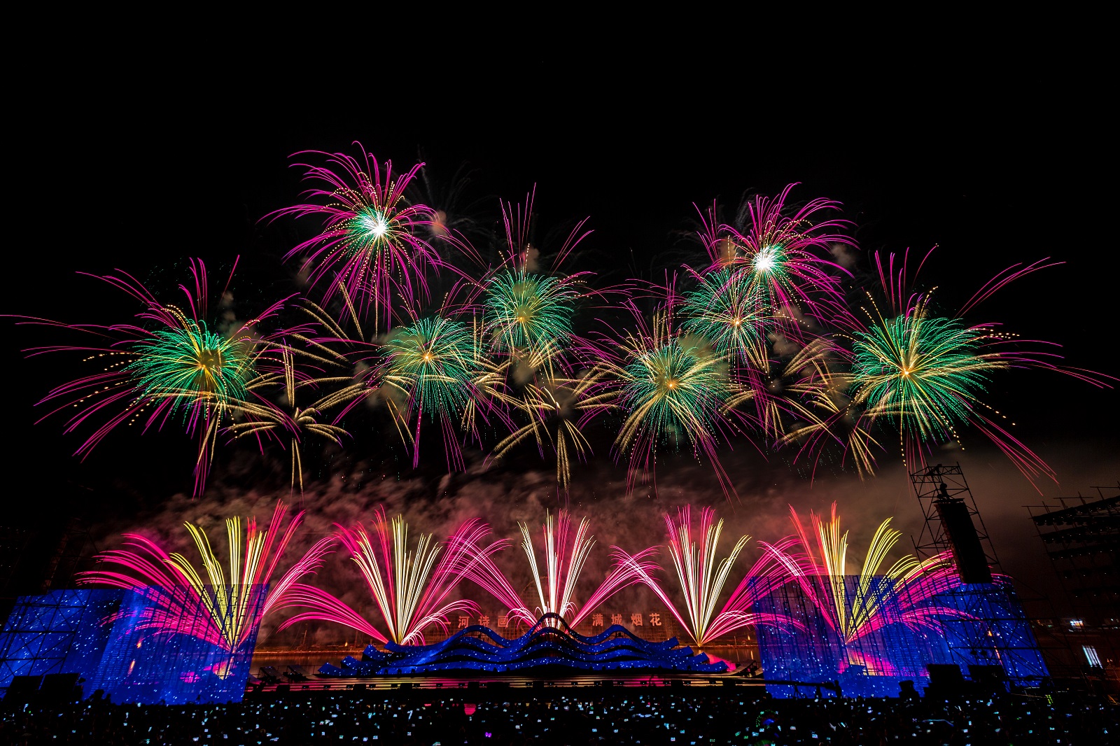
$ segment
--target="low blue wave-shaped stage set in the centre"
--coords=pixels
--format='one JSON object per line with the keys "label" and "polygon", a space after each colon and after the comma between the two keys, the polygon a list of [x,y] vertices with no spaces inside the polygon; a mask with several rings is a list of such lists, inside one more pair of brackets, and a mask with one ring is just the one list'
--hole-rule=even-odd
{"label": "low blue wave-shaped stage set in the centre", "polygon": [[361,661],[348,655],[343,659],[342,668],[326,663],[319,673],[364,678],[454,671],[502,673],[549,666],[582,671],[727,671],[724,662],[712,663],[703,653],[678,647],[675,637],[648,642],[620,625],[586,637],[558,615],[545,614],[514,640],[489,627],[473,625],[431,645],[385,643],[384,651],[370,645]]}

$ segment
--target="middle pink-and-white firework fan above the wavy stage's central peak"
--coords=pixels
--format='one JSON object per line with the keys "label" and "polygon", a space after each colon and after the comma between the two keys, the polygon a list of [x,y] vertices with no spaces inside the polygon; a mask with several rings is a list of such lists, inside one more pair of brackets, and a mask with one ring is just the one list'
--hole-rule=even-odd
{"label": "middle pink-and-white firework fan above the wavy stage's central peak", "polygon": [[[557,614],[569,626],[573,627],[607,598],[623,588],[638,582],[642,571],[648,571],[654,567],[645,561],[653,550],[629,557],[614,548],[612,554],[616,559],[615,566],[580,605],[577,603],[577,586],[584,571],[584,565],[595,545],[594,538],[588,535],[590,521],[587,517],[582,519],[572,532],[571,516],[567,511],[560,511],[557,516],[550,513],[545,514],[544,525],[541,526],[543,574],[529,525],[519,523],[517,526],[521,529],[521,548],[529,559],[530,571],[536,588],[536,604],[532,609],[513,589],[510,580],[494,565],[488,553],[478,553],[479,561],[470,567],[466,577],[504,604],[510,609],[512,619],[529,625],[535,623],[544,614]],[[625,558],[626,561],[620,561],[622,558]],[[554,624],[554,622],[550,622],[550,624]]]}

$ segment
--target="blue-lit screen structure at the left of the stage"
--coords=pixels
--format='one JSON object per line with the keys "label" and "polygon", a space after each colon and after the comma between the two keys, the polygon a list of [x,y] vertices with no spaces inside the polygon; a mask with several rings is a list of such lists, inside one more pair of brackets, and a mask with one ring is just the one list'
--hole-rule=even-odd
{"label": "blue-lit screen structure at the left of the stage", "polygon": [[[214,589],[206,595],[213,599]],[[0,689],[15,677],[69,673],[84,680],[84,697],[101,690],[114,702],[241,701],[256,630],[231,651],[213,641],[204,602],[184,603],[169,619],[155,597],[85,588],[21,596],[0,632]],[[236,612],[255,618],[263,588],[244,598]]]}

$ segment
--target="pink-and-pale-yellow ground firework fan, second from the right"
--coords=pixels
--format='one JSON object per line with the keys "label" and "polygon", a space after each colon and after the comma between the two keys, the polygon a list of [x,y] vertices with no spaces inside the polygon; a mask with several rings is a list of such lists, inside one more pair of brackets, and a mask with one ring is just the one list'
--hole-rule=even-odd
{"label": "pink-and-pale-yellow ground firework fan, second from the right", "polygon": [[720,519],[718,522],[713,522],[715,515],[715,511],[711,509],[702,510],[699,531],[693,531],[692,511],[688,506],[678,511],[675,521],[671,514],[665,514],[665,528],[669,531],[669,556],[672,559],[683,596],[683,612],[662,587],[662,584],[654,579],[648,566],[637,561],[637,557],[623,554],[623,565],[628,567],[642,582],[656,594],[681,627],[688,631],[698,647],[703,647],[716,637],[745,626],[773,624],[787,627],[794,625],[791,619],[783,616],[750,610],[758,598],[788,580],[788,575],[783,571],[783,568],[765,557],[755,562],[719,613],[716,613],[719,597],[735,566],[735,560],[738,559],[739,552],[747,545],[750,537],[739,537],[730,553],[717,565],[716,552],[724,521]]}

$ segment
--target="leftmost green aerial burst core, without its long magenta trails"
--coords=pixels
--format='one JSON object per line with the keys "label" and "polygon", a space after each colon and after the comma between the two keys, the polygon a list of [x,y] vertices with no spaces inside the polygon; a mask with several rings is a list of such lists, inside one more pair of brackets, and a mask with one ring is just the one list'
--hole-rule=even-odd
{"label": "leftmost green aerial burst core, without its long magenta trails", "polygon": [[244,400],[246,382],[254,375],[245,339],[227,339],[195,321],[151,336],[136,346],[137,358],[124,369],[146,397],[170,399],[172,409],[218,411]]}

